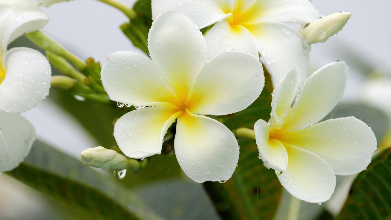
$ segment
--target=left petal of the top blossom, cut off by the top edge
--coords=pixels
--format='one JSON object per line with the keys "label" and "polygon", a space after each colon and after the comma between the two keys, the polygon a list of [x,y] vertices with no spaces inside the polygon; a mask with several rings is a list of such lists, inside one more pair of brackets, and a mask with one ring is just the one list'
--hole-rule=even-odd
{"label": "left petal of the top blossom, cut off by the top edge", "polygon": [[152,0],[152,20],[165,11],[175,10],[189,16],[202,29],[229,16],[231,8],[229,0]]}

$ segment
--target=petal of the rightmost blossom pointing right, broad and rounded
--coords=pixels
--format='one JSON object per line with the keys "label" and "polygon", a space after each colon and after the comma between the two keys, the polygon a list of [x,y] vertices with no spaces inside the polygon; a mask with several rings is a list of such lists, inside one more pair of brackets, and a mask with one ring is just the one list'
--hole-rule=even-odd
{"label": "petal of the rightmost blossom pointing right, broad and rounded", "polygon": [[355,117],[323,121],[280,139],[321,156],[337,175],[365,170],[377,145],[371,128]]}

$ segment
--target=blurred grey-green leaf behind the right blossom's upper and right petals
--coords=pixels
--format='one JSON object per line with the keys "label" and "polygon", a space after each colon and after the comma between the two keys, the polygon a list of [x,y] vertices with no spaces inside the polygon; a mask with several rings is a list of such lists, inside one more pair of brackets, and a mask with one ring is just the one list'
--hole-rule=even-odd
{"label": "blurred grey-green leaf behind the right blossom's upper and right petals", "polygon": [[380,142],[389,129],[389,119],[381,110],[361,103],[340,103],[322,120],[354,116],[371,126]]}

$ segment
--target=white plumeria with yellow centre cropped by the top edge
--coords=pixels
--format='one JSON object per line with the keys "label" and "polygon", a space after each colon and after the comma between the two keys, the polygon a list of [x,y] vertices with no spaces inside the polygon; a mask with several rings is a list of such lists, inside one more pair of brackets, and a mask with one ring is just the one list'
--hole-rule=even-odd
{"label": "white plumeria with yellow centre cropped by the top edge", "polygon": [[259,52],[277,83],[295,65],[301,80],[307,78],[310,44],[282,22],[315,22],[319,13],[309,0],[152,0],[152,20],[169,9],[200,29],[217,22],[205,36],[210,58],[223,50]]}

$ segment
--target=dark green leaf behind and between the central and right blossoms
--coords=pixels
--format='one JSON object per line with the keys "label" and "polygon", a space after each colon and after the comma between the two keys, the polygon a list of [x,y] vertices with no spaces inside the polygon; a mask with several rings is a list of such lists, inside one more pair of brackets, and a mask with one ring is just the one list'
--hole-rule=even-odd
{"label": "dark green leaf behind and between the central and right blossoms", "polygon": [[[253,128],[258,119],[266,121],[271,112],[271,79],[265,71],[265,88],[245,110],[221,117],[231,130]],[[239,163],[232,178],[221,184],[205,182],[204,188],[223,219],[271,219],[280,200],[282,186],[274,170],[267,169],[258,158],[254,140],[239,139]]]}

